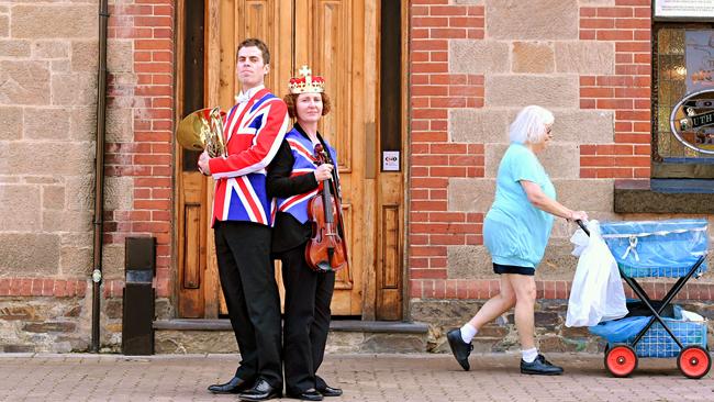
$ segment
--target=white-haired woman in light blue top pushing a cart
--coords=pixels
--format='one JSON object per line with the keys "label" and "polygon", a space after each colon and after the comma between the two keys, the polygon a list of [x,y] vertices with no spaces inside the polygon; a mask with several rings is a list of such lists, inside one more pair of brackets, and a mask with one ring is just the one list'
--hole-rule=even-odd
{"label": "white-haired woman in light blue top pushing a cart", "polygon": [[587,220],[584,211],[572,211],[556,201],[556,190],[536,154],[553,138],[548,110],[524,108],[510,127],[511,145],[499,166],[495,199],[483,220],[483,243],[491,254],[493,271],[500,276],[500,293],[487,301],[462,327],[447,339],[456,360],[469,370],[471,339],[487,323],[515,305],[523,358],[521,372],[560,375],[562,368],[538,354],[534,340],[535,269],[545,254],[553,216]]}

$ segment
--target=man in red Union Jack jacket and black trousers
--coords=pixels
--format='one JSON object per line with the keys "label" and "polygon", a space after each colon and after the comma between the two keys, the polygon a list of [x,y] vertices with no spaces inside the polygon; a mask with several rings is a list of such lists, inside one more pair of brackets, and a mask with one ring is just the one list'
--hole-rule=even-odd
{"label": "man in red Union Jack jacket and black trousers", "polygon": [[270,53],[260,40],[238,45],[242,91],[225,118],[226,157],[199,157],[199,170],[216,180],[212,226],[219,275],[242,361],[214,393],[244,401],[282,395],[280,299],[270,259],[270,200],[266,167],[288,129],[288,110],[264,86]]}

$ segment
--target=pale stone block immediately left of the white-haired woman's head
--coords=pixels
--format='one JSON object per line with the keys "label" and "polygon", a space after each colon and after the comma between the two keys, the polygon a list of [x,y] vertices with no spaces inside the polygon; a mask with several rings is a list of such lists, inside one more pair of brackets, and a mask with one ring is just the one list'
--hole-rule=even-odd
{"label": "pale stone block immediately left of the white-haired woman's head", "polygon": [[509,143],[509,116],[502,110],[449,110],[449,136],[456,143]]}

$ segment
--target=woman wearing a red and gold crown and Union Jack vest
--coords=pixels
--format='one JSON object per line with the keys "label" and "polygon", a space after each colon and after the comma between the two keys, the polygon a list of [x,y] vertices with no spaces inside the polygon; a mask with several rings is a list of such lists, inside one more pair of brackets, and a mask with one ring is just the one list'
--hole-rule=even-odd
{"label": "woman wearing a red and gold crown and Union Jack vest", "polygon": [[[290,93],[283,98],[290,118],[295,119],[268,168],[268,193],[276,198],[272,253],[282,261],[286,289],[283,322],[283,364],[286,393],[306,401],[339,397],[316,375],[325,353],[330,330],[330,303],[335,272],[315,271],[305,261],[305,247],[312,235],[308,202],[320,183],[338,183],[336,153],[317,132],[320,119],[330,112],[330,98],[322,77],[312,76],[308,66],[292,78]],[[315,145],[322,145],[332,164],[315,164]],[[327,182],[324,183],[327,186]],[[337,186],[338,188],[338,186]]]}

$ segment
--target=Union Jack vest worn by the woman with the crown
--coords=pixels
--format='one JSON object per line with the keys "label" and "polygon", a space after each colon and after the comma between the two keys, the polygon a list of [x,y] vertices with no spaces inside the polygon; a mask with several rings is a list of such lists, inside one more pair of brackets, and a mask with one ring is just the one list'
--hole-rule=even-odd
{"label": "Union Jack vest worn by the woman with the crown", "polygon": [[[330,157],[337,164],[337,153],[327,144],[327,141],[323,141],[330,150]],[[297,129],[292,129],[286,134],[286,142],[290,145],[290,150],[292,150],[292,157],[294,158],[290,176],[294,177],[314,172],[317,165],[315,165],[314,147],[310,138],[302,135]],[[335,172],[337,172],[336,168]],[[305,193],[288,198],[277,198],[278,211],[291,214],[300,223],[308,222],[308,201],[322,189],[322,186],[323,183],[320,182],[319,187]]]}

